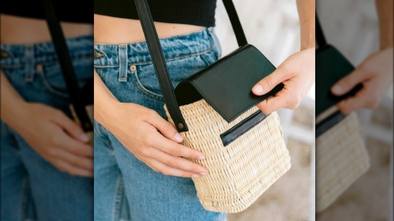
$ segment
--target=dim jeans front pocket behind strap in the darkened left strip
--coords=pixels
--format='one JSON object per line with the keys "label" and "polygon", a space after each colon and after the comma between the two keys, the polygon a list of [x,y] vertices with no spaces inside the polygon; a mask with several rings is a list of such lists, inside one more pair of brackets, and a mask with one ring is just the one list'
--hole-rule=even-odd
{"label": "dim jeans front pocket behind strap in the darkened left strip", "polygon": [[[82,58],[73,61],[78,85],[82,88],[93,78],[93,59]],[[41,76],[44,89],[52,95],[68,98],[67,85],[59,63],[37,65],[37,73]]]}

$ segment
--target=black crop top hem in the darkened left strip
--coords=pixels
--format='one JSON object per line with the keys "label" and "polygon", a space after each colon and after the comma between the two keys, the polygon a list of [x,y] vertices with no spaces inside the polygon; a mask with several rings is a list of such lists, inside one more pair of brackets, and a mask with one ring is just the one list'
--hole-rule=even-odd
{"label": "black crop top hem in the darkened left strip", "polygon": [[[93,3],[81,4],[80,0],[52,0],[60,21],[93,23]],[[1,14],[28,18],[45,19],[41,1],[7,0],[2,1]]]}

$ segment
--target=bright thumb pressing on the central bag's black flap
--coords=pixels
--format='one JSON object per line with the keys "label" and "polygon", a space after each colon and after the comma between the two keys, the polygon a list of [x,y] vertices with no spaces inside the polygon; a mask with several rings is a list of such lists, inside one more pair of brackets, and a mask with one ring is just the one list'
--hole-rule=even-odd
{"label": "bright thumb pressing on the central bag's black flap", "polygon": [[252,92],[255,95],[263,95],[270,92],[274,87],[286,80],[287,73],[283,71],[280,67],[277,68],[267,77],[260,80],[252,88]]}

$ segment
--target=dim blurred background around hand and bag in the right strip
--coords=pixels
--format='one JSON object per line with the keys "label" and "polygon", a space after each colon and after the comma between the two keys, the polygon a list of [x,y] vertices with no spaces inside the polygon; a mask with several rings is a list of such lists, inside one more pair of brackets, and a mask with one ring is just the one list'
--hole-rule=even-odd
{"label": "dim blurred background around hand and bag in the right strip", "polygon": [[[327,41],[354,66],[379,50],[375,1],[318,0],[316,11]],[[357,111],[371,167],[318,220],[392,220],[392,92],[373,111]]]}

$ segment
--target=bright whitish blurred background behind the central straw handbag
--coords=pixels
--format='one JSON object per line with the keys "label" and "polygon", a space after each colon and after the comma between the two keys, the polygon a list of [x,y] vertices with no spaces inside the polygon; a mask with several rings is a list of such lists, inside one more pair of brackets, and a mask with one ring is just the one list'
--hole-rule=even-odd
{"label": "bright whitish blurred background behind the central straw handbag", "polygon": [[[300,26],[293,0],[233,0],[245,35],[275,65],[300,50]],[[216,33],[222,56],[237,48],[222,1],[217,2]],[[248,209],[228,221],[314,220],[315,88],[299,108],[278,113],[291,157],[291,169]]]}

